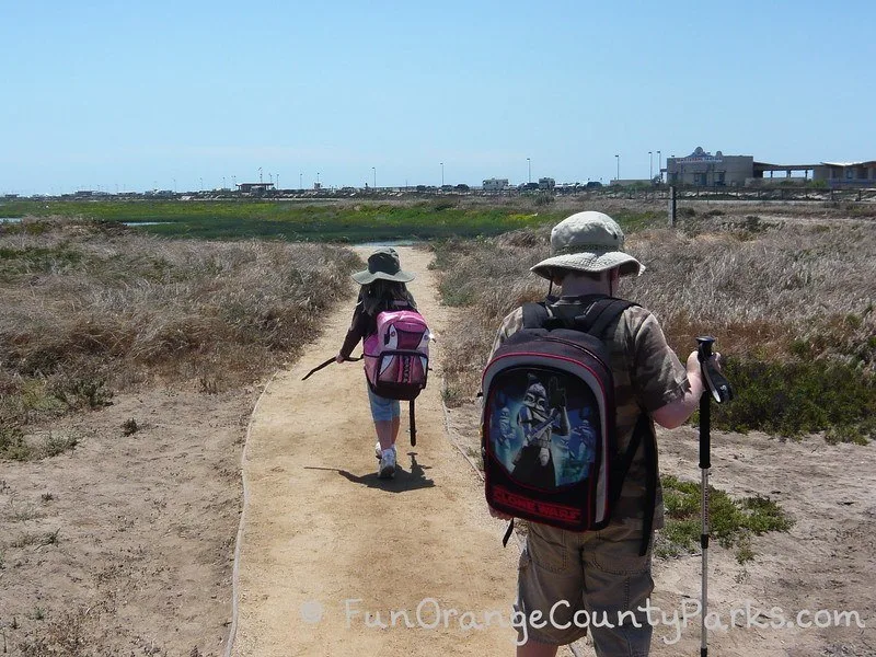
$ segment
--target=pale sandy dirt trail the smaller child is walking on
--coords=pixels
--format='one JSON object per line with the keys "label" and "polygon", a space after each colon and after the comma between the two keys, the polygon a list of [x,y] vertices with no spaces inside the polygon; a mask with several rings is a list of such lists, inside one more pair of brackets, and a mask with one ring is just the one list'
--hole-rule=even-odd
{"label": "pale sandy dirt trail the smaller child is walking on", "polygon": [[[504,525],[489,518],[477,475],[445,433],[439,306],[430,254],[399,249],[420,311],[438,334],[430,383],[417,400],[417,447],[402,404],[401,471],[377,479],[374,433],[361,365],[307,371],[336,354],[353,299],[326,318],[308,355],[268,385],[251,425],[244,460],[249,500],[241,544],[239,622],[233,655],[510,655],[516,632],[489,618],[512,603],[518,551],[502,549]],[[367,251],[361,254],[367,256]],[[354,351],[358,354],[359,349]],[[417,625],[391,622],[405,611]],[[426,600],[425,603],[423,601]]]}

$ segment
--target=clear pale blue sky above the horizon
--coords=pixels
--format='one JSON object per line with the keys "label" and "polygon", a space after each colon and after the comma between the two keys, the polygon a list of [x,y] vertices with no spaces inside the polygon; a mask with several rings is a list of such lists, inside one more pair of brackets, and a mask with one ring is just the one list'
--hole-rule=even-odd
{"label": "clear pale blue sky above the horizon", "polygon": [[869,0],[0,0],[0,194],[876,159],[875,32]]}

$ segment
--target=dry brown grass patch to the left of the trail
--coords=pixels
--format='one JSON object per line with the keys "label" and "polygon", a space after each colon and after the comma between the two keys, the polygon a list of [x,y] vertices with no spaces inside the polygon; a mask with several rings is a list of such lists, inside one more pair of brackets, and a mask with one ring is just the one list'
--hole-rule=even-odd
{"label": "dry brown grass patch to the left of the trail", "polygon": [[325,245],[170,241],[97,226],[0,229],[0,423],[148,382],[250,382],[293,355],[359,263]]}

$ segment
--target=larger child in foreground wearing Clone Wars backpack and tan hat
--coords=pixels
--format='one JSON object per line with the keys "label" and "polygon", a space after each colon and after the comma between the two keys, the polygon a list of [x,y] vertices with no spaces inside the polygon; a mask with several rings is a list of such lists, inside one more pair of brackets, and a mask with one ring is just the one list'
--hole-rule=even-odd
{"label": "larger child in foreground wearing Clone Wars backpack and tan hat", "polygon": [[[614,298],[621,276],[644,270],[623,239],[601,212],[554,227],[552,256],[531,270],[561,296],[507,315],[484,371],[491,514],[529,520],[516,602],[522,657],[553,657],[581,638],[585,611],[599,621],[589,626],[598,656],[650,646],[642,608],[664,522],[654,423],[684,423],[704,382],[696,351],[682,366],[654,315]],[[516,475],[525,460],[544,477],[534,486]]]}

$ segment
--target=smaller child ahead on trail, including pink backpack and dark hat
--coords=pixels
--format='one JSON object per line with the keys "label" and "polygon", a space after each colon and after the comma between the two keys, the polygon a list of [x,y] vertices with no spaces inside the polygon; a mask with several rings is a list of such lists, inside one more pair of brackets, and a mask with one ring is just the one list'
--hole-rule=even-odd
{"label": "smaller child ahead on trail, including pink backpack and dark hat", "polygon": [[394,249],[374,251],[368,257],[368,269],[354,274],[353,279],[362,287],[335,360],[348,360],[359,341],[364,341],[368,400],[378,438],[374,446],[374,456],[380,460],[378,475],[392,479],[401,426],[399,400],[411,401],[413,445],[416,440],[413,400],[426,387],[430,335],[405,286],[414,275],[402,270]]}

